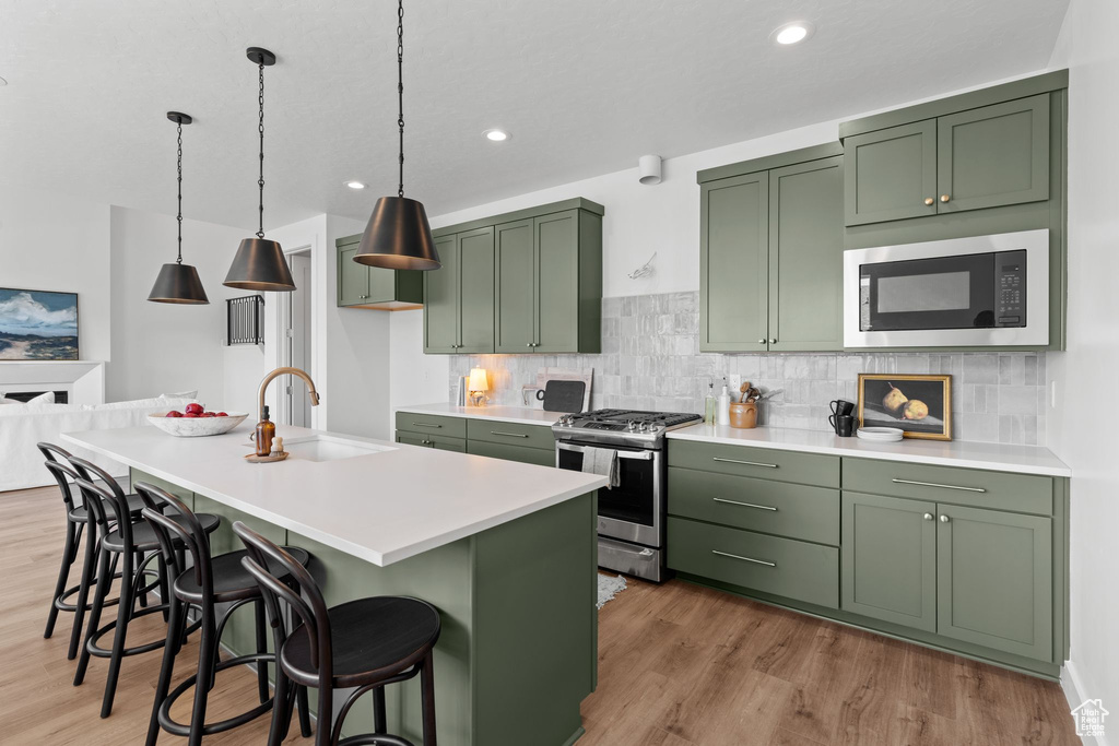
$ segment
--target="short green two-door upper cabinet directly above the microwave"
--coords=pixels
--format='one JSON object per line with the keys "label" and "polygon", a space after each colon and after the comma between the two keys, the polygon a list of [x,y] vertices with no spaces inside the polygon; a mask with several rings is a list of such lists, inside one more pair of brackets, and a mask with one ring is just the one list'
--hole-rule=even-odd
{"label": "short green two-door upper cabinet directly above the microwave", "polygon": [[848,226],[1049,199],[1050,94],[849,135]]}

